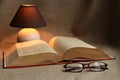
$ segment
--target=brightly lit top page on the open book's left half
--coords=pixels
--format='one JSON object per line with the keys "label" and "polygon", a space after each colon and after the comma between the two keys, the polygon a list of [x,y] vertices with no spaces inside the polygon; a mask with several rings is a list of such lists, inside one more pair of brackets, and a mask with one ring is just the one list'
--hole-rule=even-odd
{"label": "brightly lit top page on the open book's left half", "polygon": [[27,42],[17,43],[17,51],[19,56],[34,55],[38,53],[55,53],[57,54],[45,41],[32,40]]}

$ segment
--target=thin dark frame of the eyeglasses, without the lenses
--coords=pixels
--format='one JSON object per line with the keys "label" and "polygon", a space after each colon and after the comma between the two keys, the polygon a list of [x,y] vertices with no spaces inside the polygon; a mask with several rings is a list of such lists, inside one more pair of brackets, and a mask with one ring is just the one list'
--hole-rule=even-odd
{"label": "thin dark frame of the eyeglasses, without the lenses", "polygon": [[[95,71],[95,70],[92,70],[92,68],[91,68],[91,64],[92,63],[95,63],[95,61],[94,62],[87,62],[87,63],[82,63],[82,62],[69,62],[69,63],[66,63],[65,65],[63,65],[63,67],[65,68],[65,72],[82,72],[83,71],[83,69],[86,69],[86,68],[88,68],[89,69],[89,71],[92,71],[92,72],[101,72],[101,71],[105,71],[105,70],[107,70],[108,69],[108,64],[107,63],[105,63],[105,62],[99,62],[99,61],[97,61],[98,63],[103,63],[104,64],[104,67],[103,68],[101,68],[101,70],[100,71]],[[78,63],[78,64],[81,64],[82,65],[82,69],[80,70],[80,71],[75,71],[76,69],[79,69],[79,68],[75,68],[75,67],[67,67],[69,64],[74,64],[74,63]],[[71,68],[71,69],[68,69],[68,68]]]}

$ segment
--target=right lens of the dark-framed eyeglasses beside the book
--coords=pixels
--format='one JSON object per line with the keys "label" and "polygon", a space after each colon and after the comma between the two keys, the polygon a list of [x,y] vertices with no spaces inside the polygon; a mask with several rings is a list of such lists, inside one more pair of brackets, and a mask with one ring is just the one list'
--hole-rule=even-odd
{"label": "right lens of the dark-framed eyeglasses beside the book", "polygon": [[89,68],[91,71],[104,71],[107,68],[107,64],[103,63],[103,62],[93,62],[91,64],[89,64]]}

